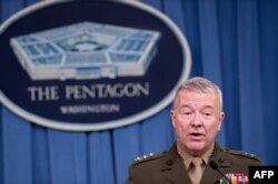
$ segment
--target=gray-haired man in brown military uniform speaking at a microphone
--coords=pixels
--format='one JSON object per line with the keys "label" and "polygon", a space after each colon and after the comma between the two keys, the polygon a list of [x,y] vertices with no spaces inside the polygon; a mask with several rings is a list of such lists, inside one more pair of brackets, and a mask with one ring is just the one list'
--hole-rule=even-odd
{"label": "gray-haired man in brown military uniform speaking at a microphone", "polygon": [[262,165],[255,155],[225,150],[216,142],[225,113],[221,91],[211,81],[186,81],[170,116],[177,143],[167,152],[135,161],[128,184],[247,183],[249,166]]}

